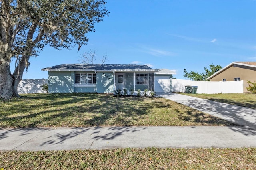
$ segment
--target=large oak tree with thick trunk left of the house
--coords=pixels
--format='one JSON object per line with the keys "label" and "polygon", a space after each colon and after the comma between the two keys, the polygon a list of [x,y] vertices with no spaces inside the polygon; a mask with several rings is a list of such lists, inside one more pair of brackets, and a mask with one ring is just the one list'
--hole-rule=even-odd
{"label": "large oak tree with thick trunk left of the house", "polygon": [[[70,49],[108,15],[104,0],[0,0],[0,99],[19,97],[17,87],[32,56],[45,45]],[[13,73],[10,63],[15,62]]]}

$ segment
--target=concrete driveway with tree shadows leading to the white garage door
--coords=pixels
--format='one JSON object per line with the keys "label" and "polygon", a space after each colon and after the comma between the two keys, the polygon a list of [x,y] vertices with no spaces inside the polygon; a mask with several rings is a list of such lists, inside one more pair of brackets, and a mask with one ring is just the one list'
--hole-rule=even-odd
{"label": "concrete driveway with tree shadows leading to the white garage door", "polygon": [[177,93],[157,93],[159,97],[192,107],[204,113],[220,117],[238,125],[256,128],[256,110],[248,107],[230,105],[207,99],[180,95]]}

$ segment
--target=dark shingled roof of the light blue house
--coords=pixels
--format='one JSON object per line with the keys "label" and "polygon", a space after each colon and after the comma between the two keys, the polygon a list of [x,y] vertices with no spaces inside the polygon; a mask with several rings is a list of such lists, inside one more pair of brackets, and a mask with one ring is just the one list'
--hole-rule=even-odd
{"label": "dark shingled roof of the light blue house", "polygon": [[156,72],[147,65],[136,64],[60,64],[42,69],[43,71],[147,71]]}

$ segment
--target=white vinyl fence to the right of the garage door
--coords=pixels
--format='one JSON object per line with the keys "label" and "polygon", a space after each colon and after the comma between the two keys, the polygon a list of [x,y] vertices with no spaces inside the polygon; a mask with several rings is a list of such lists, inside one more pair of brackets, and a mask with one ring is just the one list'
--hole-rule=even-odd
{"label": "white vinyl fence to the right of the garage door", "polygon": [[192,81],[171,79],[173,92],[185,92],[185,85],[198,86],[197,93],[244,93],[244,81]]}

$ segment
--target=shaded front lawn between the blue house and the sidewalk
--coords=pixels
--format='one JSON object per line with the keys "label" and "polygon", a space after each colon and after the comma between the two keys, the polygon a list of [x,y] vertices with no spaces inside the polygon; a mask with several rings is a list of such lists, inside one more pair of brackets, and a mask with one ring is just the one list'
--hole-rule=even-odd
{"label": "shaded front lawn between the blue house and the sidewalk", "polygon": [[29,94],[0,101],[0,127],[234,125],[163,98]]}

